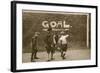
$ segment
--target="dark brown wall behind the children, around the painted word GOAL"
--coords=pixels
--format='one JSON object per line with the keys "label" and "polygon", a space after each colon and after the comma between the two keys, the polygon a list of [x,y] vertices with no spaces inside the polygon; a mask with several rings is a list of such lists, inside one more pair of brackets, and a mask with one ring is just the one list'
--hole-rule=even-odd
{"label": "dark brown wall behind the children, around the painted word GOAL", "polygon": [[[61,13],[61,12],[60,12]],[[31,51],[31,38],[34,35],[34,32],[40,32],[39,36],[39,50],[45,50],[45,43],[44,38],[46,36],[46,31],[43,31],[43,22],[47,21],[46,24],[54,23],[56,26],[54,28],[62,29],[64,28],[63,25],[70,25],[72,28],[68,30],[68,34],[71,36],[69,37],[69,46],[70,48],[86,48],[87,42],[87,13],[50,13],[50,12],[27,12],[23,10],[22,13],[22,43],[23,43],[23,52],[30,52]],[[90,17],[90,14],[88,14]],[[61,23],[61,26],[57,27],[57,24]],[[54,25],[55,25],[54,24]],[[53,25],[53,24],[52,24]],[[89,23],[90,26],[90,23]],[[90,29],[90,28],[89,28]],[[60,32],[60,31],[58,31]],[[90,35],[90,30],[88,31]],[[90,39],[90,36],[89,36]],[[89,40],[90,42],[90,40]],[[89,44],[90,45],[90,44]]]}

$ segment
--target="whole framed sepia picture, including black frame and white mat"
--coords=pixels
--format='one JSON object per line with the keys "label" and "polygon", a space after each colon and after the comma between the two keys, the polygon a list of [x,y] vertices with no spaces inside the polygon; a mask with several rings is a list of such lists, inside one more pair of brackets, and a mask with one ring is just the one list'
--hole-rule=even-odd
{"label": "whole framed sepia picture, including black frame and white mat", "polygon": [[12,72],[97,67],[97,6],[12,1]]}

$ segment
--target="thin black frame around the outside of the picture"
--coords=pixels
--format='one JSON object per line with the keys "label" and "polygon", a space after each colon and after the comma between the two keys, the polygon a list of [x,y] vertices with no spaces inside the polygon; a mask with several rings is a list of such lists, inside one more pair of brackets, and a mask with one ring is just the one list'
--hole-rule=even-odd
{"label": "thin black frame around the outside of the picture", "polygon": [[[96,9],[96,65],[87,65],[87,66],[75,66],[75,67],[58,67],[58,68],[41,68],[41,69],[27,69],[27,70],[17,70],[16,69],[16,4],[18,3],[30,3],[30,4],[49,4],[49,5],[56,5],[56,3],[42,3],[42,2],[26,2],[26,1],[11,1],[11,71],[12,72],[23,72],[23,71],[42,71],[42,70],[55,70],[55,69],[73,69],[73,68],[86,68],[86,67],[98,67],[98,7],[97,6],[89,6],[89,5],[74,5],[68,4],[71,7],[88,7],[88,8],[95,8]],[[66,5],[67,4],[60,4]],[[60,6],[58,4],[58,6]],[[14,49],[15,48],[15,49]]]}

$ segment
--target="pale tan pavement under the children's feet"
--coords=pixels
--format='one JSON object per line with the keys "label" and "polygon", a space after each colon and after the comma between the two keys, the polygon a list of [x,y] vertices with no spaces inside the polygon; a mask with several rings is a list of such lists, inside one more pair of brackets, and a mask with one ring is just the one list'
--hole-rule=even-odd
{"label": "pale tan pavement under the children's feet", "polygon": [[[88,60],[91,58],[91,50],[90,49],[70,49],[66,52],[66,61],[73,60]],[[54,54],[54,60],[52,61],[63,61],[61,58],[61,53],[56,51]],[[38,52],[37,56],[39,59],[35,59],[36,62],[46,62],[48,60],[48,55],[46,51]],[[23,53],[22,54],[22,62],[28,63],[31,62],[31,53]]]}

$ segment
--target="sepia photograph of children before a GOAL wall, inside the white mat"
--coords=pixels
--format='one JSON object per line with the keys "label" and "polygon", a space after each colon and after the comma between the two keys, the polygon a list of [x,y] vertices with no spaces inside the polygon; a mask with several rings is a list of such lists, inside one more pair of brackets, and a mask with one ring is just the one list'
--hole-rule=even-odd
{"label": "sepia photograph of children before a GOAL wall, inside the white mat", "polygon": [[91,59],[89,13],[22,11],[22,62]]}

